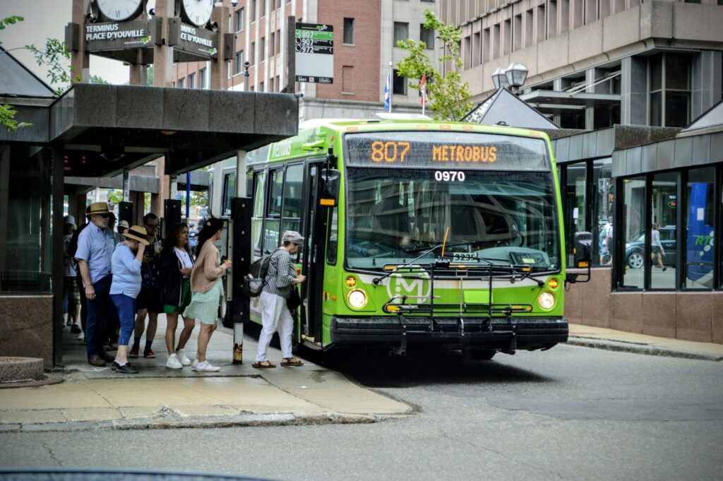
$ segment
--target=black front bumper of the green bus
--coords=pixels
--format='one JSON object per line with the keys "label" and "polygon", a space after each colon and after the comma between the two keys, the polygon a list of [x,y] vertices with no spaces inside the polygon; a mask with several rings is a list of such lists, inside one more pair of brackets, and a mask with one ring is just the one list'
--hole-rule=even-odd
{"label": "black front bumper of the green bus", "polygon": [[514,351],[549,349],[568,340],[564,318],[331,318],[331,341],[343,345],[437,345]]}

